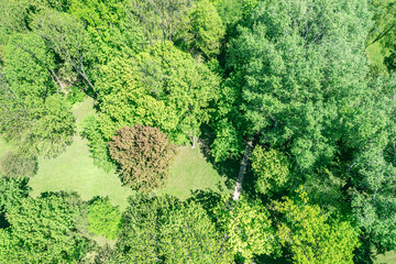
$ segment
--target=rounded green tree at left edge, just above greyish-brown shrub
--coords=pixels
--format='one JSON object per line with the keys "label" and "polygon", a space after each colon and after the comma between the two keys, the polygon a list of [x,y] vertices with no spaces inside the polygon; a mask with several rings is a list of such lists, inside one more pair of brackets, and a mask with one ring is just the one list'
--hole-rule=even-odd
{"label": "rounded green tree at left edge, just above greyish-brown shrub", "polygon": [[73,141],[75,118],[63,96],[21,96],[0,73],[0,132],[28,157],[53,157]]}

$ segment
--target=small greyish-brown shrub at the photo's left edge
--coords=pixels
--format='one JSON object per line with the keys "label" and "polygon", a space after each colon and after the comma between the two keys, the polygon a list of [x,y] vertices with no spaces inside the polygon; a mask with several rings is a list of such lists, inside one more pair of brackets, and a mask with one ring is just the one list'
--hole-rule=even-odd
{"label": "small greyish-brown shrub at the photo's left edge", "polygon": [[37,172],[36,158],[22,153],[7,152],[0,157],[0,175],[7,177],[31,177]]}

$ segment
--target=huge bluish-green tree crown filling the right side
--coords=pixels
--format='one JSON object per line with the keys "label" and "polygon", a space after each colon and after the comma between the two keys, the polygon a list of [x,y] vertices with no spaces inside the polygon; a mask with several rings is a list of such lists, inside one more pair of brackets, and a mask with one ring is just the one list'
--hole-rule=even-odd
{"label": "huge bluish-green tree crown filling the right side", "polygon": [[[253,139],[278,150],[289,158],[292,186],[302,184],[327,210],[349,211],[358,220],[365,219],[358,208],[375,204],[382,233],[374,237],[385,245],[392,226],[377,215],[384,204],[373,197],[381,190],[385,200],[394,199],[395,163],[386,153],[394,152],[395,86],[367,77],[370,19],[366,1],[258,2],[230,43],[231,73],[216,117],[228,123],[215,128],[221,136],[224,127],[238,131],[229,133],[237,146]],[[228,147],[220,140],[213,147]],[[213,153],[227,157],[241,151]],[[353,209],[359,197],[365,201]],[[380,229],[382,223],[386,228]],[[361,238],[373,238],[380,250],[374,237],[366,232]]]}

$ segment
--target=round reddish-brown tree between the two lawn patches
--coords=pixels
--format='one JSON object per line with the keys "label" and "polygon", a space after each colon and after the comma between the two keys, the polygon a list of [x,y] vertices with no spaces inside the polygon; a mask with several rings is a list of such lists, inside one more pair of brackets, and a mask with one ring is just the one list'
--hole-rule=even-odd
{"label": "round reddish-brown tree between the two lawn patches", "polygon": [[117,131],[109,142],[124,185],[148,191],[164,185],[176,147],[157,128],[135,124]]}

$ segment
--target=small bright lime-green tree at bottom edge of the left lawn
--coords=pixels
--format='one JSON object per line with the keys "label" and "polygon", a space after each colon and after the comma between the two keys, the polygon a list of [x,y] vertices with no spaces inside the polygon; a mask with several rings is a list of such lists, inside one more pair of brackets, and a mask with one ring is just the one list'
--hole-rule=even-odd
{"label": "small bright lime-green tree at bottom edge of the left lawn", "polygon": [[110,204],[108,197],[97,197],[88,206],[88,230],[114,240],[120,231],[121,212]]}

